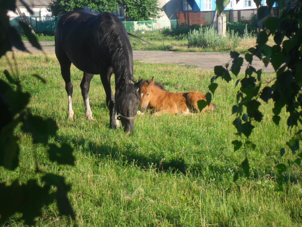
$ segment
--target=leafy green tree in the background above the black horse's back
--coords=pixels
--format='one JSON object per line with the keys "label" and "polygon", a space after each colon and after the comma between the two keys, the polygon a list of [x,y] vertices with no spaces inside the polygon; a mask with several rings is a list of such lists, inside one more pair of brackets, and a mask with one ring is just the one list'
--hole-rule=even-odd
{"label": "leafy green tree in the background above the black horse's back", "polygon": [[96,12],[114,12],[117,6],[123,6],[127,17],[133,20],[150,20],[158,18],[158,0],[53,0],[50,11],[53,15],[62,15],[65,12],[84,9],[87,6]]}

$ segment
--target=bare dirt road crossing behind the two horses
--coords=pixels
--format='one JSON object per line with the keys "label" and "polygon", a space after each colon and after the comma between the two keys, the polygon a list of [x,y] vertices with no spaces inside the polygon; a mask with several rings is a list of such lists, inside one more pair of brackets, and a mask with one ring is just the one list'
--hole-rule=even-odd
{"label": "bare dirt road crossing behind the two horses", "polygon": [[[25,47],[31,52],[38,50],[31,46],[27,41],[24,41]],[[40,42],[43,51],[47,53],[54,53],[54,41]],[[244,58],[244,56],[242,55]],[[137,61],[147,63],[176,63],[184,65],[196,65],[201,70],[214,70],[215,65],[224,65],[230,61],[229,53],[220,52],[175,52],[175,51],[133,51],[133,58]],[[263,67],[262,61],[254,58],[253,67],[256,70]],[[247,62],[244,60],[242,72],[245,71]],[[264,72],[274,72],[271,65],[264,68]]]}

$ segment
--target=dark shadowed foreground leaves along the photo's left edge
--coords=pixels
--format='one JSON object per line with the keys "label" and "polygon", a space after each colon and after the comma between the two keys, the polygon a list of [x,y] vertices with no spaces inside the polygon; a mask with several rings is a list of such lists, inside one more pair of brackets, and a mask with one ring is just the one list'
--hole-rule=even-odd
{"label": "dark shadowed foreground leaves along the photo's left edge", "polygon": [[[7,51],[11,51],[12,47],[27,51],[16,29],[9,24],[8,10],[15,11],[15,1],[0,3],[0,57]],[[36,36],[31,33],[29,27],[22,21],[19,23],[30,43],[41,49]],[[19,127],[23,133],[31,136],[34,146],[40,144],[47,149],[51,162],[73,165],[74,157],[69,145],[63,143],[58,147],[55,143],[48,142],[50,136],[56,135],[58,129],[56,122],[51,118],[44,119],[34,115],[27,107],[31,95],[22,89],[16,62],[13,67],[7,56],[6,58],[13,75],[8,70],[4,70],[6,81],[0,79],[0,166],[10,171],[16,171],[19,166],[19,137],[15,133]],[[39,75],[33,74],[32,76],[46,83]],[[0,182],[0,224],[4,224],[9,217],[18,212],[22,214],[19,221],[24,220],[25,225],[34,225],[36,218],[42,215],[42,207],[50,205],[54,200],[57,202],[61,215],[70,216],[75,220],[75,214],[67,197],[70,186],[66,185],[64,177],[40,170],[36,157],[35,161],[35,171],[37,175],[42,175],[40,182],[43,183],[43,186],[38,183],[37,178],[29,179],[26,183],[19,183],[18,178],[10,179],[11,184],[3,180]]]}

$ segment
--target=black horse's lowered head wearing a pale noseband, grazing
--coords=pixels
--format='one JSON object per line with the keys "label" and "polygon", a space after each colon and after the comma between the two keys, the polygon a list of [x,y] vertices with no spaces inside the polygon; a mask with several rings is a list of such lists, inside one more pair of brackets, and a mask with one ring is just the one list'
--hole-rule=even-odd
{"label": "black horse's lowered head wearing a pale noseband, grazing", "polygon": [[125,132],[133,132],[137,106],[140,104],[140,96],[134,83],[124,83],[122,89],[116,92],[115,100],[117,119],[122,122]]}

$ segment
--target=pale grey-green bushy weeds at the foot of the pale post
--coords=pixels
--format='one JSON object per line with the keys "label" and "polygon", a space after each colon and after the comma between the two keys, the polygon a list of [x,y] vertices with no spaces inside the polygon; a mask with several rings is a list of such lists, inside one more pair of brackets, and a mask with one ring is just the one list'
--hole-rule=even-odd
{"label": "pale grey-green bushy weeds at the foot of the pale post", "polygon": [[200,28],[188,33],[189,47],[203,47],[212,49],[231,49],[239,45],[240,37],[238,33],[230,31],[226,37],[217,34],[217,30],[212,27]]}

